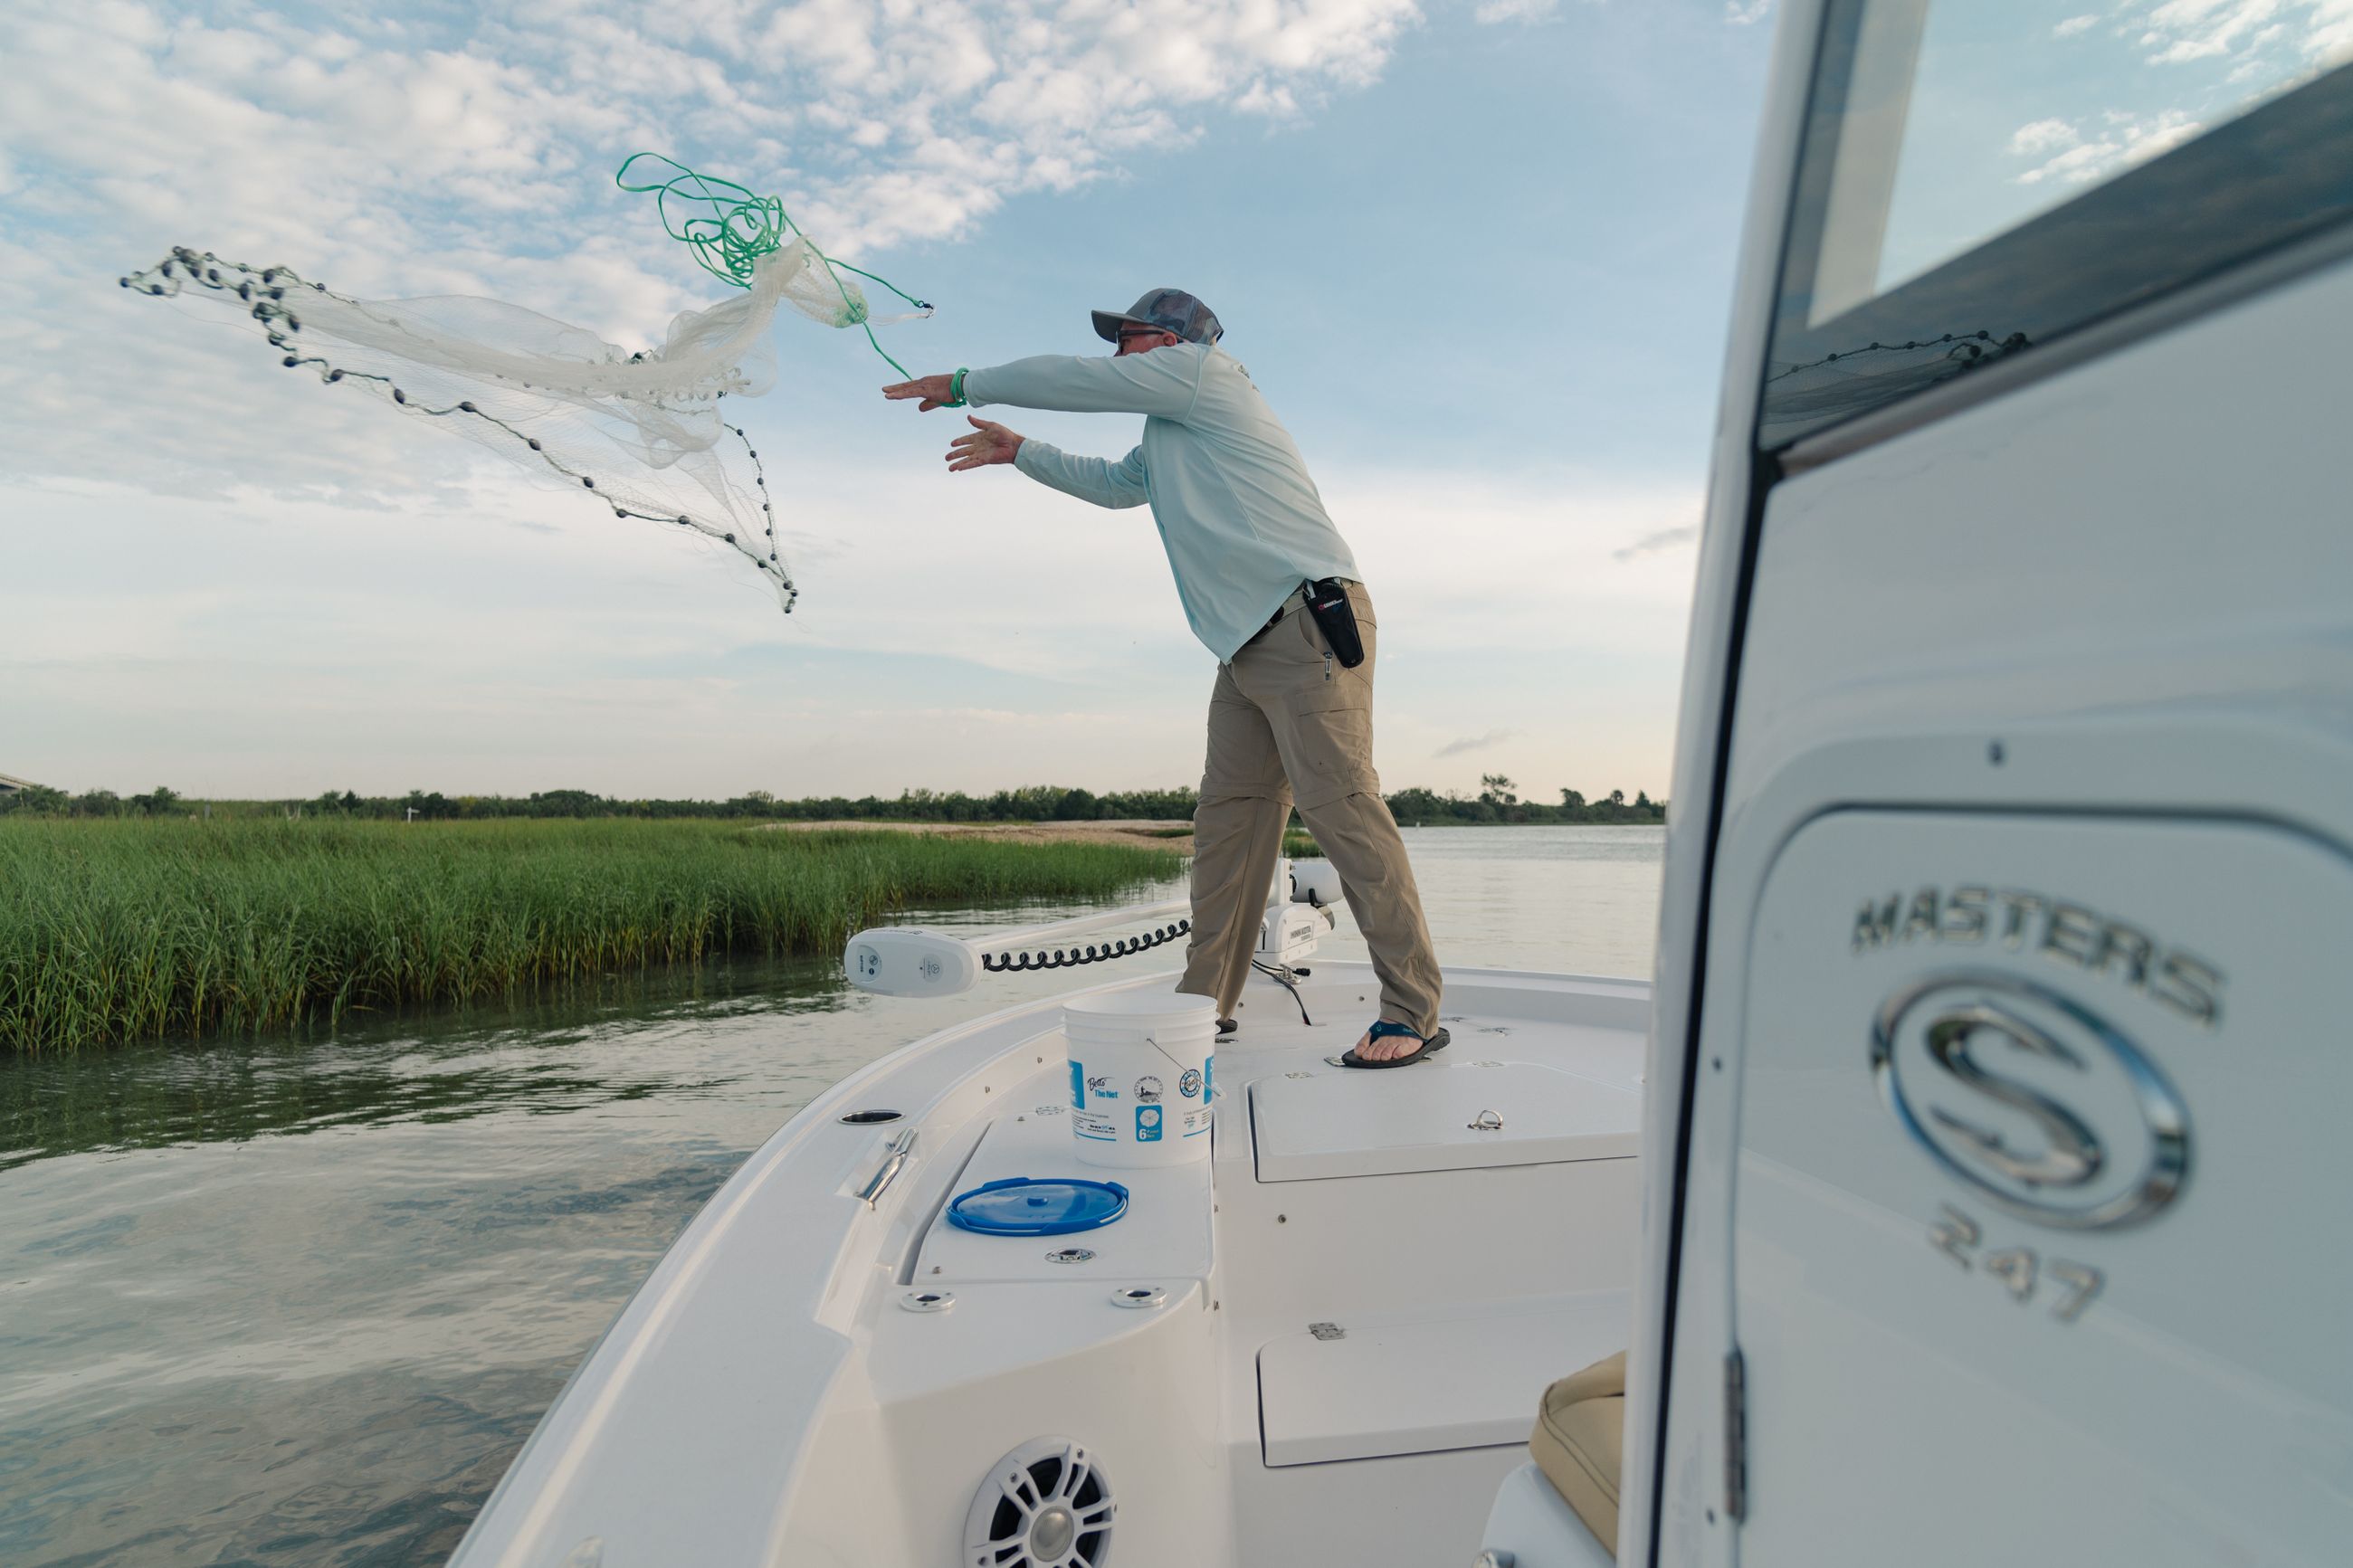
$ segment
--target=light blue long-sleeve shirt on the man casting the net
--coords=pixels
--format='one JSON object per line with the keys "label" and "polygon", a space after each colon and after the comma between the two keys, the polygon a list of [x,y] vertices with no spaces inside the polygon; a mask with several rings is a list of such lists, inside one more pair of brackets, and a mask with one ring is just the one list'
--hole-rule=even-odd
{"label": "light blue long-sleeve shirt on the man casting the net", "polygon": [[1026,440],[1014,468],[1096,505],[1148,501],[1186,621],[1219,661],[1299,583],[1358,576],[1289,430],[1224,348],[1014,360],[965,371],[965,400],[1144,416],[1144,444],[1118,463]]}

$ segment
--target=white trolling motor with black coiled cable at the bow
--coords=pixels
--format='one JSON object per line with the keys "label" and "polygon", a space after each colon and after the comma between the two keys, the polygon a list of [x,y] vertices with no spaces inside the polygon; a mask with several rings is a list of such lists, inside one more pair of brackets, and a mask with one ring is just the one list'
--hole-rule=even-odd
{"label": "white trolling motor with black coiled cable at the bow", "polygon": [[[1332,914],[1337,893],[1339,877],[1332,875],[1329,863],[1299,860],[1294,867],[1289,860],[1278,860],[1266,914],[1259,919],[1254,961],[1289,966],[1315,952],[1315,938],[1337,924]],[[953,997],[972,990],[984,973],[1075,969],[1165,947],[1193,931],[1191,910],[1188,898],[1167,898],[988,936],[958,936],[927,926],[875,926],[849,938],[842,950],[842,973],[859,990],[882,997]],[[1151,922],[1151,929],[1082,947],[1045,945],[1136,922]]]}

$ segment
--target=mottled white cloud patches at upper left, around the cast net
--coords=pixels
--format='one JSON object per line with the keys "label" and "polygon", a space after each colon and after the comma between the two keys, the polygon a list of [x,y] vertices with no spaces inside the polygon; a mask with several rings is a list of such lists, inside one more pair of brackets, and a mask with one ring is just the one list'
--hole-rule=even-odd
{"label": "mottled white cloud patches at upper left, around the cast net", "polygon": [[1217,115],[1313,113],[1417,24],[1414,0],[0,0],[0,473],[464,480],[454,442],[264,386],[266,355],[202,306],[174,322],[113,289],[172,244],[360,299],[485,294],[642,348],[713,287],[614,188],[626,150],[774,190],[866,259],[1118,176]]}

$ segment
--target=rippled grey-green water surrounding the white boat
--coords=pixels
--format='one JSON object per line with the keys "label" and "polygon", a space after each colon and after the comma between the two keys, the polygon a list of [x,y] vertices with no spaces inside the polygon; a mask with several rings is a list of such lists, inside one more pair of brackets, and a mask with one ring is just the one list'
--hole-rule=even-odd
{"label": "rippled grey-green water surrounding the white boat", "polygon": [[[1649,973],[1661,830],[1405,837],[1445,964]],[[1362,957],[1341,926],[1318,957]],[[1068,985],[896,1001],[751,964],[0,1060],[0,1563],[438,1563],[744,1154],[861,1063]]]}

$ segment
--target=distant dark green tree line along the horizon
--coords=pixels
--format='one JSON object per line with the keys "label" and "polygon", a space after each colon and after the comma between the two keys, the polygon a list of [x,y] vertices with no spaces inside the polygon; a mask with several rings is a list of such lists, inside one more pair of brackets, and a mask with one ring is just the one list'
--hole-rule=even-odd
{"label": "distant dark green tree line along the horizon", "polygon": [[[409,790],[407,795],[358,795],[327,790],[308,799],[198,799],[179,790],[155,788],[146,795],[87,790],[68,795],[31,785],[0,795],[0,813],[26,816],[344,816],[388,820],[485,820],[485,818],[753,818],[753,820],[887,820],[887,823],[1092,823],[1118,818],[1188,820],[1200,795],[1195,790],[1073,790],[1031,785],[993,795],[962,790],[904,790],[880,795],[812,795],[776,799],[767,790],[748,790],[732,799],[624,799],[593,790],[539,790],[534,795],[442,795]],[[1664,823],[1666,802],[1624,790],[1586,799],[1560,790],[1560,802],[1520,799],[1520,785],[1501,773],[1485,773],[1478,795],[1457,790],[1398,790],[1384,797],[1398,823],[1407,827],[1445,823]]]}

